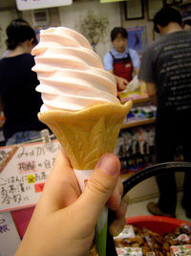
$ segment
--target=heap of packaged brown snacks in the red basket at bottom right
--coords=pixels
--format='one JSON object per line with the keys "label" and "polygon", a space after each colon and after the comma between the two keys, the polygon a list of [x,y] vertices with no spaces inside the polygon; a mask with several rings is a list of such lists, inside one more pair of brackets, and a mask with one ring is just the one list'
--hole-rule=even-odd
{"label": "heap of packaged brown snacks in the red basket at bottom right", "polygon": [[[139,255],[136,251],[125,250],[128,248],[141,248],[143,256],[183,256],[191,255],[191,226],[182,224],[175,230],[166,234],[153,232],[145,227],[130,225],[134,230],[135,237],[125,237],[123,231],[115,239],[115,244],[121,254],[118,255]],[[130,229],[130,227],[129,227]],[[124,252],[123,252],[124,251]],[[139,252],[139,250],[138,250]],[[129,253],[129,254],[128,254]]]}

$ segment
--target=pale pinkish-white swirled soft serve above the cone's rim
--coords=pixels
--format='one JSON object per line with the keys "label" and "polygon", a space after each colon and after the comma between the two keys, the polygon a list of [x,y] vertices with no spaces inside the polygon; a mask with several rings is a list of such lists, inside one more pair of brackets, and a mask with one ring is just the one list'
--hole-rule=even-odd
{"label": "pale pinkish-white swirled soft serve above the cone's rim", "polygon": [[40,32],[40,42],[32,50],[44,105],[49,109],[79,110],[86,106],[114,103],[117,84],[103,69],[88,40],[74,30],[58,27]]}

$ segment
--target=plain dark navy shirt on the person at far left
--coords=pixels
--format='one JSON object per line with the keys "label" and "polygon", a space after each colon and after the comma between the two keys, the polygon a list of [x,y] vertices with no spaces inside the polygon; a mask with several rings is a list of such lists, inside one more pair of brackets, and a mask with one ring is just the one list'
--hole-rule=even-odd
{"label": "plain dark navy shirt on the person at far left", "polygon": [[42,100],[40,93],[35,91],[39,81],[32,72],[33,65],[30,54],[0,60],[0,96],[6,117],[3,127],[6,140],[17,131],[47,128],[37,118]]}

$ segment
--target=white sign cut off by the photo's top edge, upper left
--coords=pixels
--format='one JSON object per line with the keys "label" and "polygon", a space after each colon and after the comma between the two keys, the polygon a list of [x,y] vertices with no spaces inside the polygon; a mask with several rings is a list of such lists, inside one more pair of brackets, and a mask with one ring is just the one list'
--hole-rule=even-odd
{"label": "white sign cut off by the photo's top edge, upper left", "polygon": [[19,11],[72,5],[73,0],[16,0]]}

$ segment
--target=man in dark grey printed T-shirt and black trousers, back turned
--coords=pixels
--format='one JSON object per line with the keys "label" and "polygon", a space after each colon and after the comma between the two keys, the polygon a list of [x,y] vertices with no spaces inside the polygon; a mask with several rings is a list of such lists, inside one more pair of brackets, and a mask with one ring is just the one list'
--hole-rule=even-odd
{"label": "man in dark grey printed T-shirt and black trousers, back turned", "polygon": [[[154,29],[161,36],[144,51],[138,79],[145,81],[147,92],[157,102],[157,161],[174,161],[182,147],[184,161],[191,161],[191,32],[182,30],[180,12],[164,7],[154,17]],[[175,217],[177,186],[175,175],[156,177],[158,203],[149,202],[154,215]],[[191,171],[184,176],[181,205],[191,218]]]}

